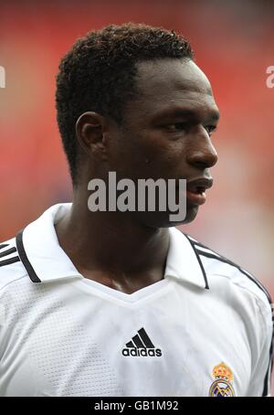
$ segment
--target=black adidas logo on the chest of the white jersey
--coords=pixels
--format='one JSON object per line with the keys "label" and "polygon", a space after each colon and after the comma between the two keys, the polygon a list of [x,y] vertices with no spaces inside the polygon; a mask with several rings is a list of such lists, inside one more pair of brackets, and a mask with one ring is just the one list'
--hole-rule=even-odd
{"label": "black adidas logo on the chest of the white jersey", "polygon": [[132,340],[122,349],[122,356],[162,356],[162,350],[155,348],[144,328],[138,330],[137,333],[138,335],[134,335]]}

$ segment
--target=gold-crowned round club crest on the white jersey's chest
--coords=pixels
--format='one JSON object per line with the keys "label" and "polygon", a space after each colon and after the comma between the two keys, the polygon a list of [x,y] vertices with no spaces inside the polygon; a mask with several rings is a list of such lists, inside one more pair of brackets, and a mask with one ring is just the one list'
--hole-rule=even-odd
{"label": "gold-crowned round club crest on the white jersey's chest", "polygon": [[212,375],[216,380],[212,383],[209,389],[210,397],[234,397],[234,388],[231,385],[233,382],[233,373],[230,367],[224,362],[219,363],[214,367]]}

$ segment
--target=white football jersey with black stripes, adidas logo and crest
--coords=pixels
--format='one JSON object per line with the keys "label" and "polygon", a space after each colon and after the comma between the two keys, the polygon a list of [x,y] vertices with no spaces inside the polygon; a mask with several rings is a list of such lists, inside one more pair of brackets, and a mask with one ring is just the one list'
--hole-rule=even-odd
{"label": "white football jersey with black stripes, adidas logo and crest", "polygon": [[169,229],[164,278],[135,293],[84,278],[58,204],[0,245],[0,396],[268,396],[269,294]]}

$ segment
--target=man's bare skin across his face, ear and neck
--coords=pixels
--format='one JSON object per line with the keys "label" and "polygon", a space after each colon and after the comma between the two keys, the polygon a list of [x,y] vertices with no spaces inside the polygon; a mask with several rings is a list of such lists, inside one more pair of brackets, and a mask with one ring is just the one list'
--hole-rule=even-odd
{"label": "man's bare skin across his face, ear and neck", "polygon": [[[218,110],[209,81],[193,61],[158,59],[137,64],[138,97],[126,105],[122,126],[96,112],[76,125],[79,184],[68,215],[56,225],[59,244],[78,271],[95,282],[134,293],[163,279],[169,248],[168,212],[90,212],[88,183],[121,178],[211,177],[211,142]],[[187,202],[184,223],[198,206]],[[179,223],[176,222],[176,225]]]}

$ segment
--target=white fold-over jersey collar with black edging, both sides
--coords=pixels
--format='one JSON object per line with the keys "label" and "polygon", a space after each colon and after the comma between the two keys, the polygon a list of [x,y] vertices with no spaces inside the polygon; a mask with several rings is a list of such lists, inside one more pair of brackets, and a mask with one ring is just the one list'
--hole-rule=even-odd
{"label": "white fold-over jersey collar with black edging, both sides", "polygon": [[[16,235],[18,255],[32,282],[83,278],[61,249],[54,224],[71,207],[70,203],[48,208],[40,218]],[[208,288],[205,271],[191,239],[170,228],[170,246],[164,277],[174,277],[200,288]]]}

